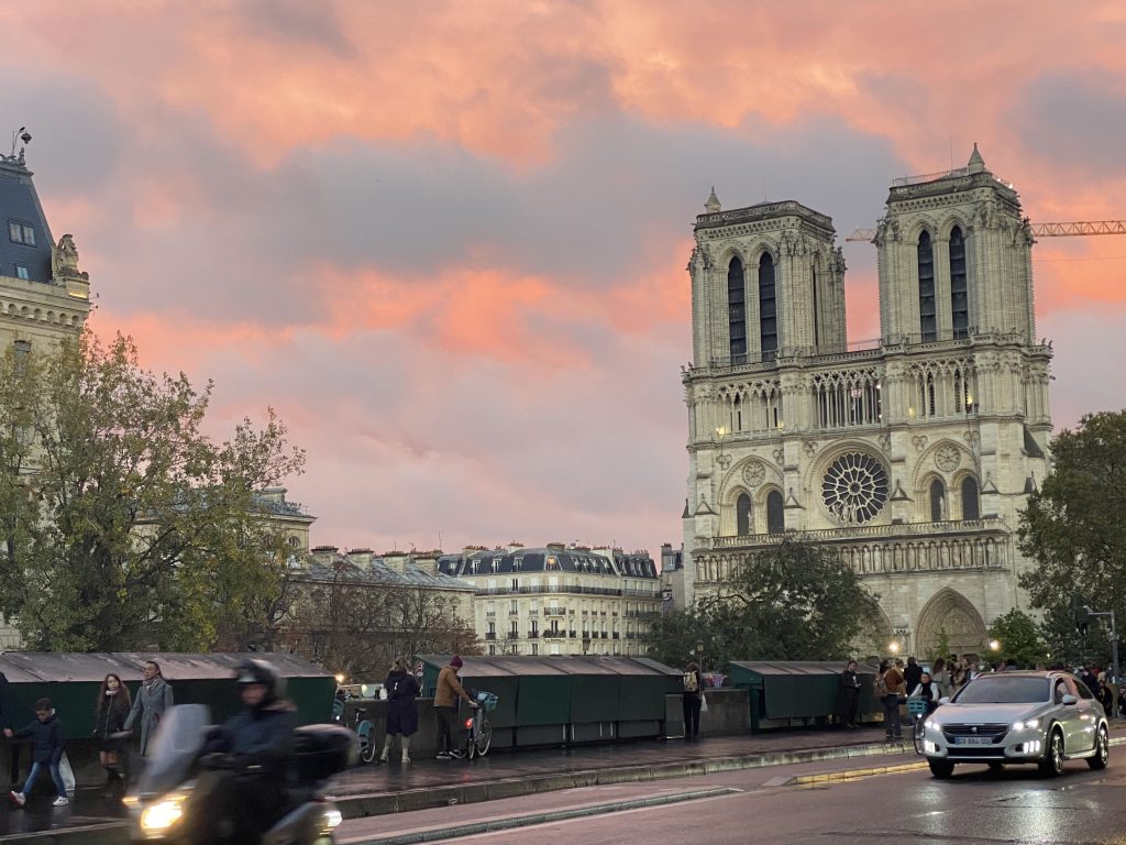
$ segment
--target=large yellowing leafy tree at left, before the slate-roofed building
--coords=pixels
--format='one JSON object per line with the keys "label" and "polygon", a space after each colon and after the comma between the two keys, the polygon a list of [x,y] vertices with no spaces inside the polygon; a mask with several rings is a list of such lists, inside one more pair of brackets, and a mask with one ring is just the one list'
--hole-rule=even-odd
{"label": "large yellowing leafy tree at left, before the slate-roofed building", "polygon": [[5,357],[0,610],[29,647],[206,649],[276,590],[282,531],[256,491],[304,454],[272,410],[212,442],[211,390],[141,370],[122,336]]}

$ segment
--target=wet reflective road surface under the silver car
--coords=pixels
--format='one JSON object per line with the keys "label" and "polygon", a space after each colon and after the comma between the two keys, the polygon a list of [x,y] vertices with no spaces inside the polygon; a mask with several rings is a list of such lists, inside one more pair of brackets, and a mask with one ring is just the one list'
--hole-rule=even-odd
{"label": "wet reflective road surface under the silver car", "polygon": [[[913,763],[917,758],[895,763]],[[835,766],[856,768],[856,762]],[[488,804],[450,807],[393,818],[346,821],[339,842],[359,845],[396,834],[418,833],[454,824],[549,811],[589,812],[645,797],[676,803],[618,812],[599,812],[509,831],[431,842],[517,845],[517,843],[583,843],[584,845],[802,845],[803,843],[901,843],[974,845],[1024,843],[1126,845],[1126,754],[1093,772],[1072,762],[1062,777],[1045,780],[1033,767],[994,774],[984,766],[955,770],[936,781],[926,770],[868,775],[822,785],[779,785],[797,775],[833,766],[806,764],[729,772],[717,775],[617,784],[534,795]],[[722,790],[736,790],[724,794]],[[712,797],[691,793],[712,790]]]}

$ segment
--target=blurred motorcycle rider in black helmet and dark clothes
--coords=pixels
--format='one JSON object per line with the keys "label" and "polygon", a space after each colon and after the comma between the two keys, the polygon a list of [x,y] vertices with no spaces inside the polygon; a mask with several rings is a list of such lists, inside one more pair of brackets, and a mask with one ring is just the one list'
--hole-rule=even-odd
{"label": "blurred motorcycle rider in black helmet and dark clothes", "polygon": [[295,708],[263,660],[240,664],[243,709],[208,738],[193,793],[193,842],[257,843],[286,812]]}

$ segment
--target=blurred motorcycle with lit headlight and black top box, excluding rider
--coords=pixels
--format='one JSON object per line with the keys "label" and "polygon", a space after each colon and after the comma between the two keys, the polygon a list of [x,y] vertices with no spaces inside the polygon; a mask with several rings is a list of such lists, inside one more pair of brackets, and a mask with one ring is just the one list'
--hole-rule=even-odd
{"label": "blurred motorcycle with lit headlight and black top box, excluding rider", "polygon": [[[189,799],[200,771],[200,751],[214,730],[204,704],[178,704],[161,720],[148,765],[126,795],[133,842],[197,845],[187,830]],[[321,792],[355,753],[347,728],[311,724],[297,728],[294,742],[295,786],[288,790],[285,816],[262,834],[262,845],[330,845],[340,811]]]}

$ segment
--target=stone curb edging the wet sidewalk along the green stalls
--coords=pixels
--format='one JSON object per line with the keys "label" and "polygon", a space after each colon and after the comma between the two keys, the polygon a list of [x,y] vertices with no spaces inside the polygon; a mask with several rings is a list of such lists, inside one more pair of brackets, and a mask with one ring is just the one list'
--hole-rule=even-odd
{"label": "stone curb edging the wet sidewalk along the green stalls", "polygon": [[803,751],[776,751],[738,757],[715,757],[677,763],[660,763],[642,766],[618,766],[616,768],[592,768],[549,775],[509,777],[483,783],[453,784],[428,789],[404,790],[402,792],[366,795],[337,795],[332,800],[346,819],[367,816],[385,816],[394,812],[430,810],[452,804],[479,803],[540,792],[599,786],[614,783],[660,781],[670,777],[735,772],[744,768],[766,768],[792,763],[816,763],[819,760],[873,757],[884,754],[913,753],[903,742],[879,742],[856,746],[811,748]]}

